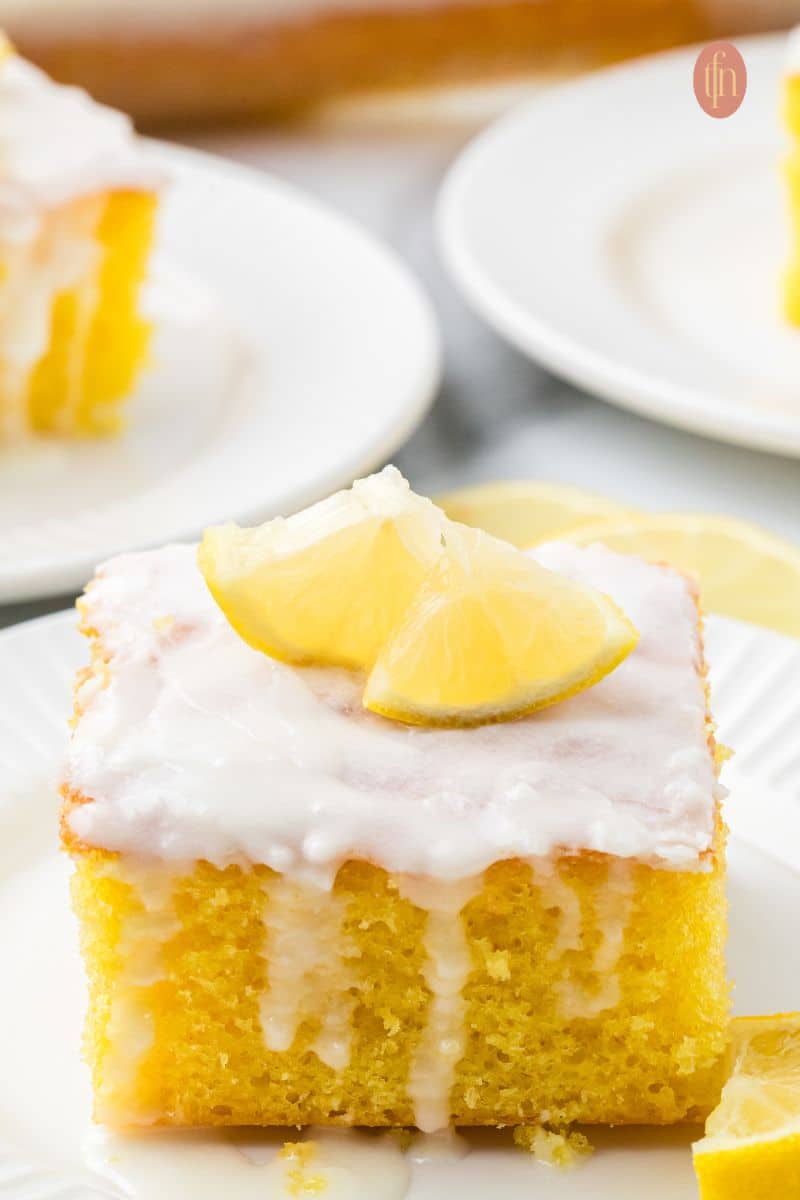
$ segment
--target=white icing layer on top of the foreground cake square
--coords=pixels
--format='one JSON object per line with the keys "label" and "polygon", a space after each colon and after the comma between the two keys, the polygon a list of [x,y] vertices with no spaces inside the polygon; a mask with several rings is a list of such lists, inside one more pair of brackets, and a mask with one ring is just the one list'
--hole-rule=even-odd
{"label": "white icing layer on top of the foreground cake square", "polygon": [[519,721],[428,730],[362,709],[362,680],[251,649],[194,550],[106,564],[88,618],[110,680],[80,692],[66,779],[88,844],[332,880],[349,857],[435,878],[593,850],[699,869],[717,787],[694,601],[666,568],[602,546],[540,547],[610,594],[640,632],[579,696]]}

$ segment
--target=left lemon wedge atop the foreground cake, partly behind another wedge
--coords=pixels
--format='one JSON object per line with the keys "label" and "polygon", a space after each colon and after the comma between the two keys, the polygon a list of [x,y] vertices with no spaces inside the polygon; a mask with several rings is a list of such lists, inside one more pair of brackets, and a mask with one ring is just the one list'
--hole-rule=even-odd
{"label": "left lemon wedge atop the foreground cake, partly behind another wedge", "polygon": [[252,647],[368,668],[441,552],[445,517],[393,467],[295,516],[207,529],[198,562]]}

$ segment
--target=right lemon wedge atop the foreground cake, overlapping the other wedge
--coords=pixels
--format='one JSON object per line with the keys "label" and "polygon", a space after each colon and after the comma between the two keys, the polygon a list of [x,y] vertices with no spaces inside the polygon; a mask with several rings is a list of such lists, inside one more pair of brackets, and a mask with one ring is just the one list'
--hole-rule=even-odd
{"label": "right lemon wedge atop the foreground cake, overlapping the other wedge", "polygon": [[411,725],[510,720],[583,691],[638,635],[608,596],[477,529],[445,550],[384,646],[363,703]]}

